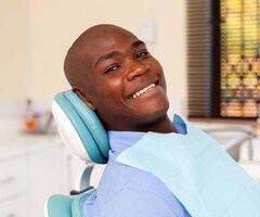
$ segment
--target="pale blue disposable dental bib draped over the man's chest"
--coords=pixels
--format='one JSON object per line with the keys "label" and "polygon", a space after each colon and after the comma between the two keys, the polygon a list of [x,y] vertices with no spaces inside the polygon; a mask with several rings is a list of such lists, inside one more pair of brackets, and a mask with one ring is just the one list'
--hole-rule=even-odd
{"label": "pale blue disposable dental bib draped over the man's chest", "polygon": [[193,217],[260,217],[260,186],[207,133],[147,132],[117,161],[160,179]]}

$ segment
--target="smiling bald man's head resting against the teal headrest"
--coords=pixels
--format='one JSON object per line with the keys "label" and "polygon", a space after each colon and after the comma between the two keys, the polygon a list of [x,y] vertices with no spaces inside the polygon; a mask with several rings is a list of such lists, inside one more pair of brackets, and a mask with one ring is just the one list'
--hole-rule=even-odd
{"label": "smiling bald man's head resting against the teal headrest", "polygon": [[87,29],[65,59],[66,77],[107,129],[148,131],[166,120],[164,72],[145,43],[114,25]]}

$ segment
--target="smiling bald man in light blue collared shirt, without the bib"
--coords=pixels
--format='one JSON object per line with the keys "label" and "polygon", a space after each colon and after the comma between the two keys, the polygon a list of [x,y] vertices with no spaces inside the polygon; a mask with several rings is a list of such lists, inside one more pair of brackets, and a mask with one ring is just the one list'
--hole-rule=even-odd
{"label": "smiling bald man in light blue collared shirt, without the bib", "polygon": [[190,216],[156,176],[116,161],[147,131],[185,133],[167,116],[164,72],[145,43],[118,26],[93,26],[68,50],[64,69],[74,91],[108,130],[110,144],[106,169],[83,216]]}

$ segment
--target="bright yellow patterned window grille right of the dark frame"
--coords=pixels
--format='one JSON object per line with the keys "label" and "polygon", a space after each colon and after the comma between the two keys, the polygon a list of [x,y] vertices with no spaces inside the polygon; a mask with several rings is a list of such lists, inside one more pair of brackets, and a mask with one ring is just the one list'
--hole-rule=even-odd
{"label": "bright yellow patterned window grille right of the dark frame", "polygon": [[259,0],[221,0],[221,116],[260,114]]}

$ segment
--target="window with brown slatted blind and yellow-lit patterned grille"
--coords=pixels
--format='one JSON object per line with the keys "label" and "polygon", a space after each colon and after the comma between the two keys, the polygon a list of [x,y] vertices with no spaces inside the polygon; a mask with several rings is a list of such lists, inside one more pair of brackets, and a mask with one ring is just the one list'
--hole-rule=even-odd
{"label": "window with brown slatted blind and yellow-lit patterned grille", "polygon": [[186,8],[188,116],[260,116],[260,0]]}

